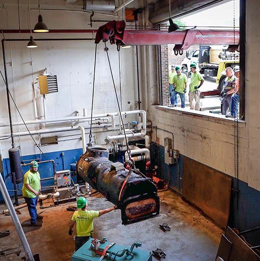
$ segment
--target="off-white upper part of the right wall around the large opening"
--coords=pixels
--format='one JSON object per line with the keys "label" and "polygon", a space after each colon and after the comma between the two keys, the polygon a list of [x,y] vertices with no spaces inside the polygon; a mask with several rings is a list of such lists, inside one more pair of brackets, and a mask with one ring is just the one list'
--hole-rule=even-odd
{"label": "off-white upper part of the right wall around the large opening", "polygon": [[[247,61],[246,61],[246,121],[239,123],[239,179],[260,190],[260,5],[259,0],[247,0]],[[147,17],[147,16],[146,16]],[[227,119],[192,115],[189,110],[171,110],[153,106],[154,75],[149,74],[156,47],[143,47],[142,96],[147,118],[153,126],[174,133],[174,148],[181,154],[234,176],[234,122]],[[146,58],[145,58],[146,57]],[[148,89],[147,89],[148,88]],[[155,133],[153,133],[155,134]],[[171,135],[158,130],[163,145]],[[153,135],[153,140],[155,136]]]}

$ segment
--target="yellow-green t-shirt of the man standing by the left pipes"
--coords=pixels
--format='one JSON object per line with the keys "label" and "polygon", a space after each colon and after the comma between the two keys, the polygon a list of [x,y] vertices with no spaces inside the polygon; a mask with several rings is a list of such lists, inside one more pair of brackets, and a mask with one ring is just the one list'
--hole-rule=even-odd
{"label": "yellow-green t-shirt of the man standing by the left pipes", "polygon": [[28,170],[23,176],[22,195],[26,198],[36,198],[36,195],[28,190],[24,184],[29,184],[35,191],[40,190],[40,174]]}

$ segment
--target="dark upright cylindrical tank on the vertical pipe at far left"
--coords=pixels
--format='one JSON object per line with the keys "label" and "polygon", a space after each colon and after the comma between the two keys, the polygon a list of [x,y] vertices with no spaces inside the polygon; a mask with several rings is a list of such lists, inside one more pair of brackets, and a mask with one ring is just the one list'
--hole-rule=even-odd
{"label": "dark upright cylindrical tank on the vertical pipe at far left", "polygon": [[21,156],[18,148],[10,148],[8,150],[11,172],[15,173],[16,183],[22,182]]}

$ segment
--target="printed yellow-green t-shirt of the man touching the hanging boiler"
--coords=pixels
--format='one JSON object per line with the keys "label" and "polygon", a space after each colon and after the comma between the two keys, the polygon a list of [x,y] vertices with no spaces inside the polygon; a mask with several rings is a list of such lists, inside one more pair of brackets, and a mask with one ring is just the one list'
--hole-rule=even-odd
{"label": "printed yellow-green t-shirt of the man touching the hanging boiler", "polygon": [[91,236],[91,233],[94,230],[93,219],[97,217],[99,217],[99,211],[75,211],[71,220],[76,221],[77,237]]}

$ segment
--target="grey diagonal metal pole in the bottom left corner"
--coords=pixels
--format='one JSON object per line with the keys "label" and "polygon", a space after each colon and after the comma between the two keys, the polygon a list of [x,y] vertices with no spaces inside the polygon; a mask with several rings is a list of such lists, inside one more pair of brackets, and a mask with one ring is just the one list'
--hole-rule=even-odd
{"label": "grey diagonal metal pole in the bottom left corner", "polygon": [[2,175],[0,175],[0,191],[2,193],[2,197],[4,199],[4,202],[7,205],[7,208],[9,210],[9,212],[10,212],[13,225],[15,226],[17,234],[18,234],[18,236],[20,238],[20,241],[21,241],[21,244],[23,246],[24,252],[25,252],[26,256],[28,257],[29,261],[34,261],[34,258],[33,258],[32,253],[31,253],[30,246],[29,246],[28,241],[27,241],[27,239],[26,239],[26,237],[24,235],[24,232],[23,232],[22,227],[21,227],[21,223],[20,223],[20,221],[19,221],[19,219],[17,217],[15,209],[14,209],[14,207],[12,205],[12,202],[11,202],[10,196],[8,194],[8,191],[6,189],[6,186],[4,184]]}

